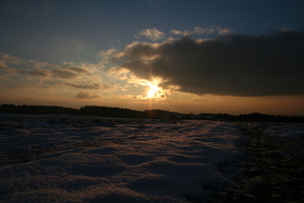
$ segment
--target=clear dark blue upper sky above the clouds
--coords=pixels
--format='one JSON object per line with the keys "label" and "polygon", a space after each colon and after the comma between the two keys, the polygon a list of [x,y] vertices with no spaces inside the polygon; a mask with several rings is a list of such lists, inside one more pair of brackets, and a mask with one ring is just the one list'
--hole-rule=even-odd
{"label": "clear dark blue upper sky above the clouds", "polygon": [[[98,62],[146,28],[230,28],[268,34],[304,26],[303,1],[2,1],[1,52],[49,62]],[[64,42],[62,42],[64,41]],[[77,43],[77,45],[75,45]],[[80,46],[81,50],[74,50]],[[69,52],[69,53],[67,53]]]}

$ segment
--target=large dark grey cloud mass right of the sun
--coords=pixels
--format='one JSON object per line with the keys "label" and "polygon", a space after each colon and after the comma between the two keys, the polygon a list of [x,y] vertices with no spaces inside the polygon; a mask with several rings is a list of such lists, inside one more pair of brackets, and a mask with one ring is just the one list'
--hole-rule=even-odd
{"label": "large dark grey cloud mass right of the sun", "polygon": [[152,73],[167,80],[164,88],[177,85],[181,92],[198,95],[304,95],[303,53],[304,32],[200,41],[184,37],[129,45],[120,67],[144,79]]}

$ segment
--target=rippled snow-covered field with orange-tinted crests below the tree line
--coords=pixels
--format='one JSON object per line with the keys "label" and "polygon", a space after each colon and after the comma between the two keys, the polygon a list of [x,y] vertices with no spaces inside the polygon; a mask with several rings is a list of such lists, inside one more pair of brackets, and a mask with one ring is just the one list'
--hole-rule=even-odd
{"label": "rippled snow-covered field with orange-tinted crests below the tree line", "polygon": [[244,129],[303,144],[302,125],[1,114],[0,201],[256,201]]}

